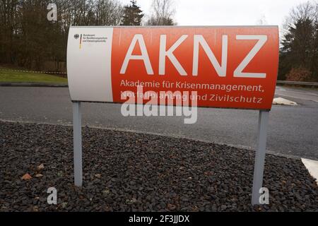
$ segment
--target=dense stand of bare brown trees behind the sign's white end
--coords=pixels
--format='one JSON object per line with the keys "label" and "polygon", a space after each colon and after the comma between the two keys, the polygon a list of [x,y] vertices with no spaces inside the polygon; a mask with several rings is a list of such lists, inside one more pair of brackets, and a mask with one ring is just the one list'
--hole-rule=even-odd
{"label": "dense stand of bare brown trees behind the sign's white end", "polygon": [[[47,20],[52,2],[56,23]],[[119,0],[0,0],[0,64],[58,71],[71,25],[119,25],[122,8]]]}

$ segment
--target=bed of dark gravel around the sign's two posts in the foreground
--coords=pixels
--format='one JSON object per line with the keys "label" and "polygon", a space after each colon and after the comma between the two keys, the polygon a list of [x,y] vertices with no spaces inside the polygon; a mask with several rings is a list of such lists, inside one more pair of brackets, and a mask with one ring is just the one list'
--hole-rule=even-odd
{"label": "bed of dark gravel around the sign's two posts in the foreground", "polygon": [[0,122],[0,211],[318,211],[300,160],[266,155],[265,206],[250,204],[253,170],[250,150],[85,127],[78,189],[71,126]]}

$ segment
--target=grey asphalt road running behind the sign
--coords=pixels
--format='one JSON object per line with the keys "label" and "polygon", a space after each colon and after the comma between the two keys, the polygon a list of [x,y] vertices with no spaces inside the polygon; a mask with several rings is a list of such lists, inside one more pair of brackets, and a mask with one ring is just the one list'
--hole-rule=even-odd
{"label": "grey asphalt road running behind the sign", "polygon": [[[298,106],[273,106],[267,149],[282,155],[318,160],[318,90],[278,87],[276,96],[298,102]],[[159,133],[249,148],[256,146],[257,111],[201,108],[196,124],[184,124],[182,117],[123,117],[120,107],[83,103],[83,125]],[[71,124],[69,90],[0,87],[0,119]]]}

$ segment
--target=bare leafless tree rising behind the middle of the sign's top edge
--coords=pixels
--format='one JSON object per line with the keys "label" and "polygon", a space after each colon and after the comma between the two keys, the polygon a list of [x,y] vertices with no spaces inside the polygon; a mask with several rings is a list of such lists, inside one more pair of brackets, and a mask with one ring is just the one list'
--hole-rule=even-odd
{"label": "bare leafless tree rising behind the middle of the sign's top edge", "polygon": [[146,25],[176,25],[173,16],[175,16],[173,0],[153,0],[152,14]]}

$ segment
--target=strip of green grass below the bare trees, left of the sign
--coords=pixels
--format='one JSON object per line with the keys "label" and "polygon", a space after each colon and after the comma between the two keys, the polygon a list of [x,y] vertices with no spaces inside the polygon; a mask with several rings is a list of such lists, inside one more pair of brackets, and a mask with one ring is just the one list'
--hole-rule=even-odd
{"label": "strip of green grass below the bare trees, left of the sign", "polygon": [[59,76],[51,76],[47,73],[20,72],[0,67],[0,83],[67,84],[67,79]]}

